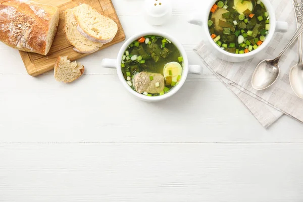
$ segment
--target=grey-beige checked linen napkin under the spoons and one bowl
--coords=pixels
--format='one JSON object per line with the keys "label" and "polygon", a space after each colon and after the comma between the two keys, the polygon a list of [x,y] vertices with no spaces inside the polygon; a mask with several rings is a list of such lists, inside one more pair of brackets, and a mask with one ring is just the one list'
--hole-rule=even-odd
{"label": "grey-beige checked linen napkin under the spoons and one bowl", "polygon": [[270,2],[276,11],[277,20],[288,22],[289,31],[276,33],[263,55],[242,63],[230,63],[216,58],[203,41],[194,48],[204,64],[237,95],[265,128],[283,114],[303,122],[303,99],[293,93],[289,83],[290,67],[298,61],[297,43],[294,43],[281,58],[279,62],[281,73],[274,85],[262,91],[257,91],[251,86],[251,76],[259,62],[278,56],[296,30],[292,1],[272,0]]}

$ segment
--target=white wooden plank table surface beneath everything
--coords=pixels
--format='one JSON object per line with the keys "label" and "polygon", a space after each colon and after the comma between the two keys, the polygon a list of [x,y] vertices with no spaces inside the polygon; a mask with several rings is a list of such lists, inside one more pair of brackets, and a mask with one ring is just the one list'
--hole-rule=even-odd
{"label": "white wooden plank table surface beneath everything", "polygon": [[[159,29],[201,40],[187,16],[201,0],[174,0],[153,27],[142,0],[113,0],[129,37]],[[0,201],[302,201],[303,125],[284,116],[268,130],[208,69],[163,103],[143,103],[103,69],[122,43],[82,60],[76,82],[27,75],[0,44]]]}

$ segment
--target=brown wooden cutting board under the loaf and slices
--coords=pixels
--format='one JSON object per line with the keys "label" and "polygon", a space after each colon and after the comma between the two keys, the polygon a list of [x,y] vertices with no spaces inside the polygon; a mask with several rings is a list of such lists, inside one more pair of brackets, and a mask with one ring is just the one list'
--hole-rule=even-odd
{"label": "brown wooden cutting board under the loaf and slices", "polygon": [[[59,26],[57,35],[54,39],[53,45],[49,50],[47,56],[39,55],[36,53],[28,53],[19,51],[27,73],[31,76],[38,76],[44,72],[54,69],[54,64],[58,56],[68,56],[71,61],[83,58],[89,54],[80,54],[73,51],[73,46],[70,45],[64,36],[64,11],[71,9],[80,4],[87,4],[95,8],[98,12],[110,17],[118,25],[118,33],[112,42],[103,45],[100,49],[109,47],[113,44],[121,42],[125,39],[125,33],[116,14],[115,8],[111,0],[34,0],[41,4],[48,4],[56,6],[60,9]],[[99,49],[99,50],[100,50]]]}

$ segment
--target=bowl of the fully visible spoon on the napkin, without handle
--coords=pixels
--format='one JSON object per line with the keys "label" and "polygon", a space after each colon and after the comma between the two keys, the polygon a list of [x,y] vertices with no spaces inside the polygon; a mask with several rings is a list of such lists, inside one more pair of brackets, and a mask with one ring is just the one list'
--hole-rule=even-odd
{"label": "bowl of the fully visible spoon on the napkin, without handle", "polygon": [[264,90],[271,86],[279,77],[280,68],[276,60],[264,60],[252,74],[251,85],[256,90]]}

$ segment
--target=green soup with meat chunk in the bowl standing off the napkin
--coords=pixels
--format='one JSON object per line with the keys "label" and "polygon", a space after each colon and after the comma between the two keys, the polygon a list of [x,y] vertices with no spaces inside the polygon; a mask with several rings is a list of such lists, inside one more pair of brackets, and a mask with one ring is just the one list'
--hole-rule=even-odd
{"label": "green soup with meat chunk in the bowl standing off the napkin", "polygon": [[146,96],[159,96],[178,84],[183,58],[169,39],[149,35],[128,46],[122,57],[121,69],[133,90]]}

